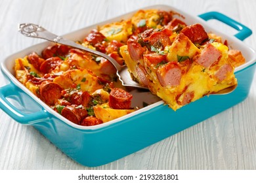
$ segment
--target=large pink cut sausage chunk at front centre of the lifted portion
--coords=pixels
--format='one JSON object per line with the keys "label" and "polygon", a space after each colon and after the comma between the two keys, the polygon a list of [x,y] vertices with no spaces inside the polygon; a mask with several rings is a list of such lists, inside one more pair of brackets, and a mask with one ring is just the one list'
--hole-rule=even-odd
{"label": "large pink cut sausage chunk at front centre of the lifted portion", "polygon": [[161,86],[179,86],[181,82],[181,68],[175,62],[169,62],[158,67],[158,80]]}

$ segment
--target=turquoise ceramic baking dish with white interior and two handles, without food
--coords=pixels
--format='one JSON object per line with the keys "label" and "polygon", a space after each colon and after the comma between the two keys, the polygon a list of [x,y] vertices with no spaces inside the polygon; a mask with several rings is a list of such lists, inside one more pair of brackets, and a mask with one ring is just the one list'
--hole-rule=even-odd
{"label": "turquoise ceramic baking dish with white interior and two handles, without food", "polygon": [[[226,39],[233,49],[241,50],[247,62],[235,70],[238,79],[236,90],[227,95],[205,96],[176,112],[151,93],[134,90],[133,105],[142,106],[143,103],[151,105],[105,124],[84,127],[54,112],[14,77],[14,59],[24,57],[33,51],[40,53],[43,48],[51,44],[51,42],[43,42],[12,54],[1,63],[1,71],[10,83],[0,88],[0,107],[17,122],[35,127],[70,158],[82,165],[95,167],[123,158],[198,124],[240,103],[247,97],[255,71],[256,54],[242,40],[251,35],[250,29],[219,12],[207,12],[197,17],[167,5],[156,5],[144,9],[150,8],[178,12],[185,17],[186,24],[200,23],[206,31],[220,35],[223,40]],[[64,37],[73,41],[82,40],[98,25],[130,18],[136,11],[85,27]],[[216,27],[207,25],[205,20],[209,19],[224,22],[237,29],[238,33],[234,36],[221,33]]]}

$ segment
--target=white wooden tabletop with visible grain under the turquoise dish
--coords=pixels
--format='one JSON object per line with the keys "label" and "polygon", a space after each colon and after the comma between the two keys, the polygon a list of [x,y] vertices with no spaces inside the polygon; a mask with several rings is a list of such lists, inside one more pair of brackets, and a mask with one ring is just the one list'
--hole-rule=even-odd
{"label": "white wooden tabletop with visible grain under the turquoise dish", "polygon": [[[41,42],[17,32],[31,22],[63,35],[148,5],[165,4],[198,15],[223,12],[253,30],[245,44],[256,50],[255,0],[0,0],[0,58]],[[215,22],[209,22],[215,24]],[[236,31],[219,25],[232,35]],[[6,84],[0,75],[0,87]],[[0,169],[256,169],[256,80],[244,102],[148,148],[107,165],[83,167],[31,126],[0,110]]]}

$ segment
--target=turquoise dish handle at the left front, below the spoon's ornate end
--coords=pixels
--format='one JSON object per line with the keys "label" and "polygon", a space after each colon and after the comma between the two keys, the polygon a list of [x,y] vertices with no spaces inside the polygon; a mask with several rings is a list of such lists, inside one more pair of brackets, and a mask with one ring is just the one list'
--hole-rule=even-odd
{"label": "turquoise dish handle at the left front, below the spoon's ornate end", "polygon": [[16,120],[21,124],[31,125],[37,122],[41,122],[43,119],[49,118],[46,110],[40,110],[38,112],[26,114],[18,110],[18,108],[16,108],[7,100],[7,97],[11,95],[17,95],[18,97],[21,97],[20,91],[21,90],[19,90],[19,88],[12,83],[1,87],[0,88],[0,108],[2,108],[3,111],[5,111],[9,116],[11,116],[11,118],[13,118],[14,120]]}

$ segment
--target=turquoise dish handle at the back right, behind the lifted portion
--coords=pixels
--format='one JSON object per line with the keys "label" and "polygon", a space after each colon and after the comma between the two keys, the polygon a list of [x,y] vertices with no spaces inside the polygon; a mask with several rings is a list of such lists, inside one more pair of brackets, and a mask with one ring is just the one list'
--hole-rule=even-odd
{"label": "turquoise dish handle at the back right, behind the lifted portion", "polygon": [[245,38],[249,37],[252,34],[251,29],[246,27],[243,24],[240,24],[239,22],[236,22],[236,20],[233,20],[232,18],[229,18],[228,16],[221,14],[220,12],[206,12],[204,14],[198,15],[203,20],[219,20],[223,22],[226,25],[229,25],[230,27],[233,27],[234,29],[238,30],[239,32],[234,35],[236,38],[243,41]]}

